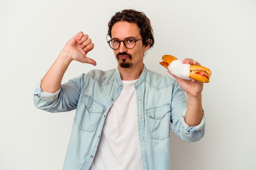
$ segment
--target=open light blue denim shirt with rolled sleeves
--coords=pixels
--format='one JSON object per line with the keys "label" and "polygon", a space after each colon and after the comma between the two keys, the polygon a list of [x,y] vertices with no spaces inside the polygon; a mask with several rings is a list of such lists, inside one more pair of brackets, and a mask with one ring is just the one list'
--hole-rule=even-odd
{"label": "open light blue denim shirt with rolled sleeves", "polygon": [[[43,92],[38,84],[34,104],[39,109],[76,109],[63,170],[90,168],[105,118],[122,88],[117,68],[82,74],[61,85],[54,94]],[[180,86],[173,78],[147,70],[146,66],[134,88],[143,169],[170,170],[170,129],[185,141],[198,141],[204,136],[204,116],[198,126],[186,124],[187,102]]]}

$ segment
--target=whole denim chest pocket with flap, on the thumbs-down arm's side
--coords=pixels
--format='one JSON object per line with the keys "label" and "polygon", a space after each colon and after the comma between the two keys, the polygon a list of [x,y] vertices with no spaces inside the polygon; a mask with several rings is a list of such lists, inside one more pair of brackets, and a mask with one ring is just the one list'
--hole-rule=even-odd
{"label": "whole denim chest pocket with flap, on the thumbs-down arm's side", "polygon": [[104,109],[105,105],[90,96],[85,96],[76,111],[74,121],[80,130],[92,132],[99,123]]}

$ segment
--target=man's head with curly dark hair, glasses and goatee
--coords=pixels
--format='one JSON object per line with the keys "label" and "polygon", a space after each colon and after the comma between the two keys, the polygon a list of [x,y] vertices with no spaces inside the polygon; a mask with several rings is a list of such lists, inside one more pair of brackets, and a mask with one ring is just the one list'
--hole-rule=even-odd
{"label": "man's head with curly dark hair, glasses and goatee", "polygon": [[123,10],[109,24],[108,41],[121,68],[142,69],[146,50],[154,44],[150,21],[142,12]]}

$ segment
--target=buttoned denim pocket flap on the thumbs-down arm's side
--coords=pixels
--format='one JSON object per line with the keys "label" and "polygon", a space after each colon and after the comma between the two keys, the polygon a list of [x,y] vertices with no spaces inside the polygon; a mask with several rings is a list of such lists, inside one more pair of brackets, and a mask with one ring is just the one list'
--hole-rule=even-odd
{"label": "buttoned denim pocket flap on the thumbs-down arm's side", "polygon": [[86,106],[86,109],[90,113],[102,113],[105,109],[105,106],[101,104],[100,102],[94,100],[90,96],[85,95],[82,102]]}

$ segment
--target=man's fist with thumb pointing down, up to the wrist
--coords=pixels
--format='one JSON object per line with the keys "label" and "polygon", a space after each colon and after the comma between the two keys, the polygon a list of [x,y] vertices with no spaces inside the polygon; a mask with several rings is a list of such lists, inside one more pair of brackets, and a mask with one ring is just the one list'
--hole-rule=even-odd
{"label": "man's fist with thumb pointing down, up to the wrist", "polygon": [[87,34],[79,32],[67,42],[61,53],[68,57],[70,61],[76,60],[81,63],[96,65],[96,61],[86,56],[93,48],[92,39]]}

